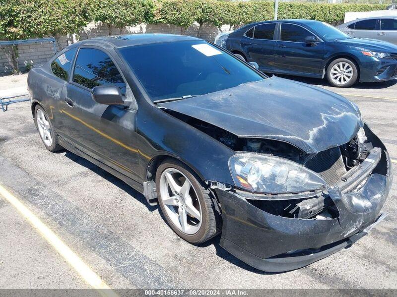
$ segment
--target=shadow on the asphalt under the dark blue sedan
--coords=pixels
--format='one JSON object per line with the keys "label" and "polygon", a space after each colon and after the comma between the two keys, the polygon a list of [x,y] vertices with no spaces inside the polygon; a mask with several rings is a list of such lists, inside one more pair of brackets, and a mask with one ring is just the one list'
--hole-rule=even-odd
{"label": "shadow on the asphalt under the dark blue sedan", "polygon": [[[331,84],[328,82],[327,79],[303,77],[303,76],[291,76],[291,75],[282,75],[282,74],[274,74],[274,75],[286,79],[307,83],[310,85],[333,87],[331,86]],[[397,79],[380,81],[380,82],[361,82],[361,83],[356,83],[353,86],[345,89],[379,90],[394,86],[395,84],[397,84]]]}

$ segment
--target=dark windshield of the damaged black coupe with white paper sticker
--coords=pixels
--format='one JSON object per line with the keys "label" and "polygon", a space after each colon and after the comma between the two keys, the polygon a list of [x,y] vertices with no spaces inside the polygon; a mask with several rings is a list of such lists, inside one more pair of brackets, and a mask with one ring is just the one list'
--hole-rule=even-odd
{"label": "dark windshield of the damaged black coupe with white paper sticker", "polygon": [[152,101],[203,95],[264,79],[201,40],[131,46],[120,53]]}

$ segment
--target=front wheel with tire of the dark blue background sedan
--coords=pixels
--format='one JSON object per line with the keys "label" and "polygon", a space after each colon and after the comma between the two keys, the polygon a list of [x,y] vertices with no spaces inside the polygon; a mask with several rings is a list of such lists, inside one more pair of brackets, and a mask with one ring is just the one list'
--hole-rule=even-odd
{"label": "front wheel with tire of the dark blue background sedan", "polygon": [[350,87],[358,80],[357,66],[350,59],[335,59],[327,68],[327,79],[334,87]]}

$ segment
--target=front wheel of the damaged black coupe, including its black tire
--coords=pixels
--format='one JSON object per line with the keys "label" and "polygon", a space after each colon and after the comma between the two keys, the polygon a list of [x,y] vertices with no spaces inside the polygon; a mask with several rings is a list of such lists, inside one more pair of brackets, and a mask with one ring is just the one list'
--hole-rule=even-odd
{"label": "front wheel of the damaged black coupe, including its black tire", "polygon": [[191,243],[216,235],[210,192],[187,166],[165,160],[156,172],[156,190],[161,211],[177,235]]}

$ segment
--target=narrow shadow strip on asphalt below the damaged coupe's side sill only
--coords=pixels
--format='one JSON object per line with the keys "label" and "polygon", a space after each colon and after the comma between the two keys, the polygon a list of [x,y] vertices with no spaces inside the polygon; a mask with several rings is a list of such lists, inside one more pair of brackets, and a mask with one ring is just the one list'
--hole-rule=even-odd
{"label": "narrow shadow strip on asphalt below the damaged coupe's side sill only", "polygon": [[76,154],[69,152],[69,151],[61,151],[61,152],[66,152],[65,157],[72,160],[73,162],[76,162],[77,164],[84,166],[85,168],[91,170],[95,174],[99,175],[101,178],[105,178],[107,181],[113,183],[115,186],[119,187],[123,191],[125,191],[127,194],[131,195],[134,199],[142,203],[147,207],[149,211],[154,211],[157,207],[156,206],[150,206],[146,202],[146,198],[133,189],[131,186],[129,186],[127,183],[125,183],[123,180],[120,178],[115,177],[114,175],[108,173],[107,171],[103,170],[102,168],[96,166],[94,163],[91,163],[90,161],[77,156]]}

